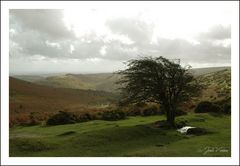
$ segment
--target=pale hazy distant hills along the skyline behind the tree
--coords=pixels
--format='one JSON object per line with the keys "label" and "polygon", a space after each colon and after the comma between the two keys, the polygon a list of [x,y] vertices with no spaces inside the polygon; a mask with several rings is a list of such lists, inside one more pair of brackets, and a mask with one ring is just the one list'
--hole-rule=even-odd
{"label": "pale hazy distant hills along the skyline behind the tree", "polygon": [[[230,67],[212,67],[212,68],[199,68],[191,69],[195,76],[200,76],[216,71],[229,69]],[[100,73],[100,74],[65,74],[54,75],[50,77],[43,76],[14,76],[16,78],[34,82],[39,85],[47,85],[60,88],[72,89],[91,89],[107,92],[117,92],[117,85],[115,82],[120,78],[117,74]]]}

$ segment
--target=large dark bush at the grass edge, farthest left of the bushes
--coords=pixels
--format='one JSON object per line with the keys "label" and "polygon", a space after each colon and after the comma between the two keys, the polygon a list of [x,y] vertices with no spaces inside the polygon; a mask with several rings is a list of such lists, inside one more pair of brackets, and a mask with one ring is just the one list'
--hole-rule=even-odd
{"label": "large dark bush at the grass edge, farthest left of the bushes", "polygon": [[46,125],[71,124],[77,121],[76,115],[70,112],[59,111],[57,114],[48,118]]}

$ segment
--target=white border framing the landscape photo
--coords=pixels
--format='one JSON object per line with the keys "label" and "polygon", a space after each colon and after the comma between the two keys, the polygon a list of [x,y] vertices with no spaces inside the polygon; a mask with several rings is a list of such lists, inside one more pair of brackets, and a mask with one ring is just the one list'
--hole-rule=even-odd
{"label": "white border framing the landscape photo", "polygon": [[[231,24],[231,157],[9,157],[9,9],[63,9],[66,6],[218,3],[232,5]],[[239,164],[239,2],[160,1],[2,1],[1,2],[1,164],[3,165],[237,165]]]}

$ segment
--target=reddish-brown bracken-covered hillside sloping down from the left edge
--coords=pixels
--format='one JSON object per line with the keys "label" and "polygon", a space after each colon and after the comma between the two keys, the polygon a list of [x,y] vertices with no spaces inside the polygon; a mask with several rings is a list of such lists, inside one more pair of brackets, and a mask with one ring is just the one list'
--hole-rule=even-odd
{"label": "reddish-brown bracken-covered hillside sloping down from the left edge", "polygon": [[[116,96],[109,92],[53,88],[36,85],[16,78],[9,78],[10,119],[21,121],[31,112],[46,114],[59,110],[89,111],[94,107],[108,105]],[[21,116],[24,117],[21,117]]]}

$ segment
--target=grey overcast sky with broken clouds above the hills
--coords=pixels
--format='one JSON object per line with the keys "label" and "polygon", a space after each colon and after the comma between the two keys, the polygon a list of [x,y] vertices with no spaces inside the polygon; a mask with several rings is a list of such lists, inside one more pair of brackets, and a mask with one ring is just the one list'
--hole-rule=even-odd
{"label": "grey overcast sky with broken clouds above the hills", "polygon": [[231,6],[207,2],[11,9],[10,73],[112,72],[143,56],[230,66],[231,17]]}

